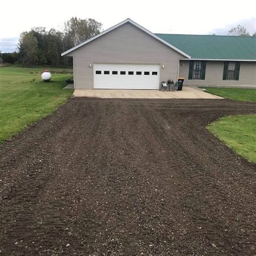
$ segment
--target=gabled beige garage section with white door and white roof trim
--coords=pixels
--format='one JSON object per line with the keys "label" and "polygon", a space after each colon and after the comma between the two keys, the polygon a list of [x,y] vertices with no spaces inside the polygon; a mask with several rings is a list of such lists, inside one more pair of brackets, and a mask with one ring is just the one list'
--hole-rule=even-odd
{"label": "gabled beige garage section with white door and white roof trim", "polygon": [[75,89],[157,90],[178,77],[186,53],[126,19],[62,53],[73,57]]}

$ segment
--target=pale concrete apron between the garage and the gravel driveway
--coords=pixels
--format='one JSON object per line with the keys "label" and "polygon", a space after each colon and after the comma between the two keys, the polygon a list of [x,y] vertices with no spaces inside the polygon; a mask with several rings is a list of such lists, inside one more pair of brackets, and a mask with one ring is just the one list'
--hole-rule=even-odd
{"label": "pale concrete apron between the garage and the gravel driveway", "polygon": [[134,98],[134,99],[223,99],[210,93],[183,87],[182,91],[158,91],[158,90],[84,90],[75,89],[75,97],[95,98]]}

